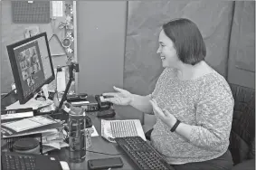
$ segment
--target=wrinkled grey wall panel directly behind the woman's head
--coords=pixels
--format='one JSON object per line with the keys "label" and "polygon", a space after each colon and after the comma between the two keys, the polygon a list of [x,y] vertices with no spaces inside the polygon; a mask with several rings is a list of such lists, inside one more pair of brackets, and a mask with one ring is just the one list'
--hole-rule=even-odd
{"label": "wrinkled grey wall panel directly behind the woman's head", "polygon": [[[128,2],[124,88],[140,95],[154,90],[156,80],[163,71],[156,54],[158,34],[162,24],[177,17],[189,18],[198,25],[206,45],[205,60],[227,77],[232,5],[228,1],[198,0]],[[141,114],[133,112],[133,115]],[[145,120],[151,121],[152,118],[145,115]]]}

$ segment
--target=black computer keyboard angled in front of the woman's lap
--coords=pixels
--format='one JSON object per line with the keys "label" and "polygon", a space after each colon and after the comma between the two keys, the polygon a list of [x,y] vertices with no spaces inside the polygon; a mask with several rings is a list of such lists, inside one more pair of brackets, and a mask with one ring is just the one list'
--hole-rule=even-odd
{"label": "black computer keyboard angled in front of the woman's lap", "polygon": [[140,170],[175,170],[141,137],[116,137],[115,140]]}

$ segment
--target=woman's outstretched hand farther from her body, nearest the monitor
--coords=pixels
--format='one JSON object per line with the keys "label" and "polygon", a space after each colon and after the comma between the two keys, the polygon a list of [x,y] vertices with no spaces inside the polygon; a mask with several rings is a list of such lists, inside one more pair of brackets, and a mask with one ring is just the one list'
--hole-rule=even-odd
{"label": "woman's outstretched hand farther from her body, nearest the monitor", "polygon": [[105,97],[103,99],[100,99],[101,101],[109,101],[116,105],[129,105],[131,101],[133,100],[133,95],[128,92],[128,90],[123,90],[116,88],[114,86],[114,90],[117,92],[107,92],[103,93],[102,95]]}

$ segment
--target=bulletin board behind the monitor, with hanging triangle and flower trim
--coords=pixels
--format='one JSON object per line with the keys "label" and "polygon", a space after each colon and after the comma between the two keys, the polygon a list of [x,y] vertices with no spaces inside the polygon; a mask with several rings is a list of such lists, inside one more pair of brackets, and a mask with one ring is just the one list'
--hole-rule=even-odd
{"label": "bulletin board behind the monitor, with hanging triangle and flower trim", "polygon": [[[27,3],[27,1],[25,1]],[[52,1],[50,1],[51,3]],[[16,24],[13,20],[13,8],[11,1],[2,1],[1,3],[1,91],[8,92],[14,77],[6,50],[6,46],[14,42],[24,40],[25,30],[28,27],[37,26],[39,33],[46,32],[52,54],[53,67],[58,65],[67,65],[70,61],[76,59],[76,27],[75,27],[75,2],[62,1],[63,16],[52,18],[52,9],[50,4],[50,23],[32,23],[32,24]],[[48,13],[48,12],[47,12]],[[54,36],[53,36],[54,35]],[[55,36],[56,35],[56,36]],[[67,43],[70,41],[70,44]],[[64,45],[64,46],[63,46]]]}

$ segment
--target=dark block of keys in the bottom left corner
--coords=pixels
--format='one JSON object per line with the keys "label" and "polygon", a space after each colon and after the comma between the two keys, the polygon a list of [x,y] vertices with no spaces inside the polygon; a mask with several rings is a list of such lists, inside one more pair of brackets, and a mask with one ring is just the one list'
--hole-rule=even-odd
{"label": "dark block of keys in the bottom left corner", "polygon": [[35,156],[6,154],[2,152],[3,170],[36,170]]}

